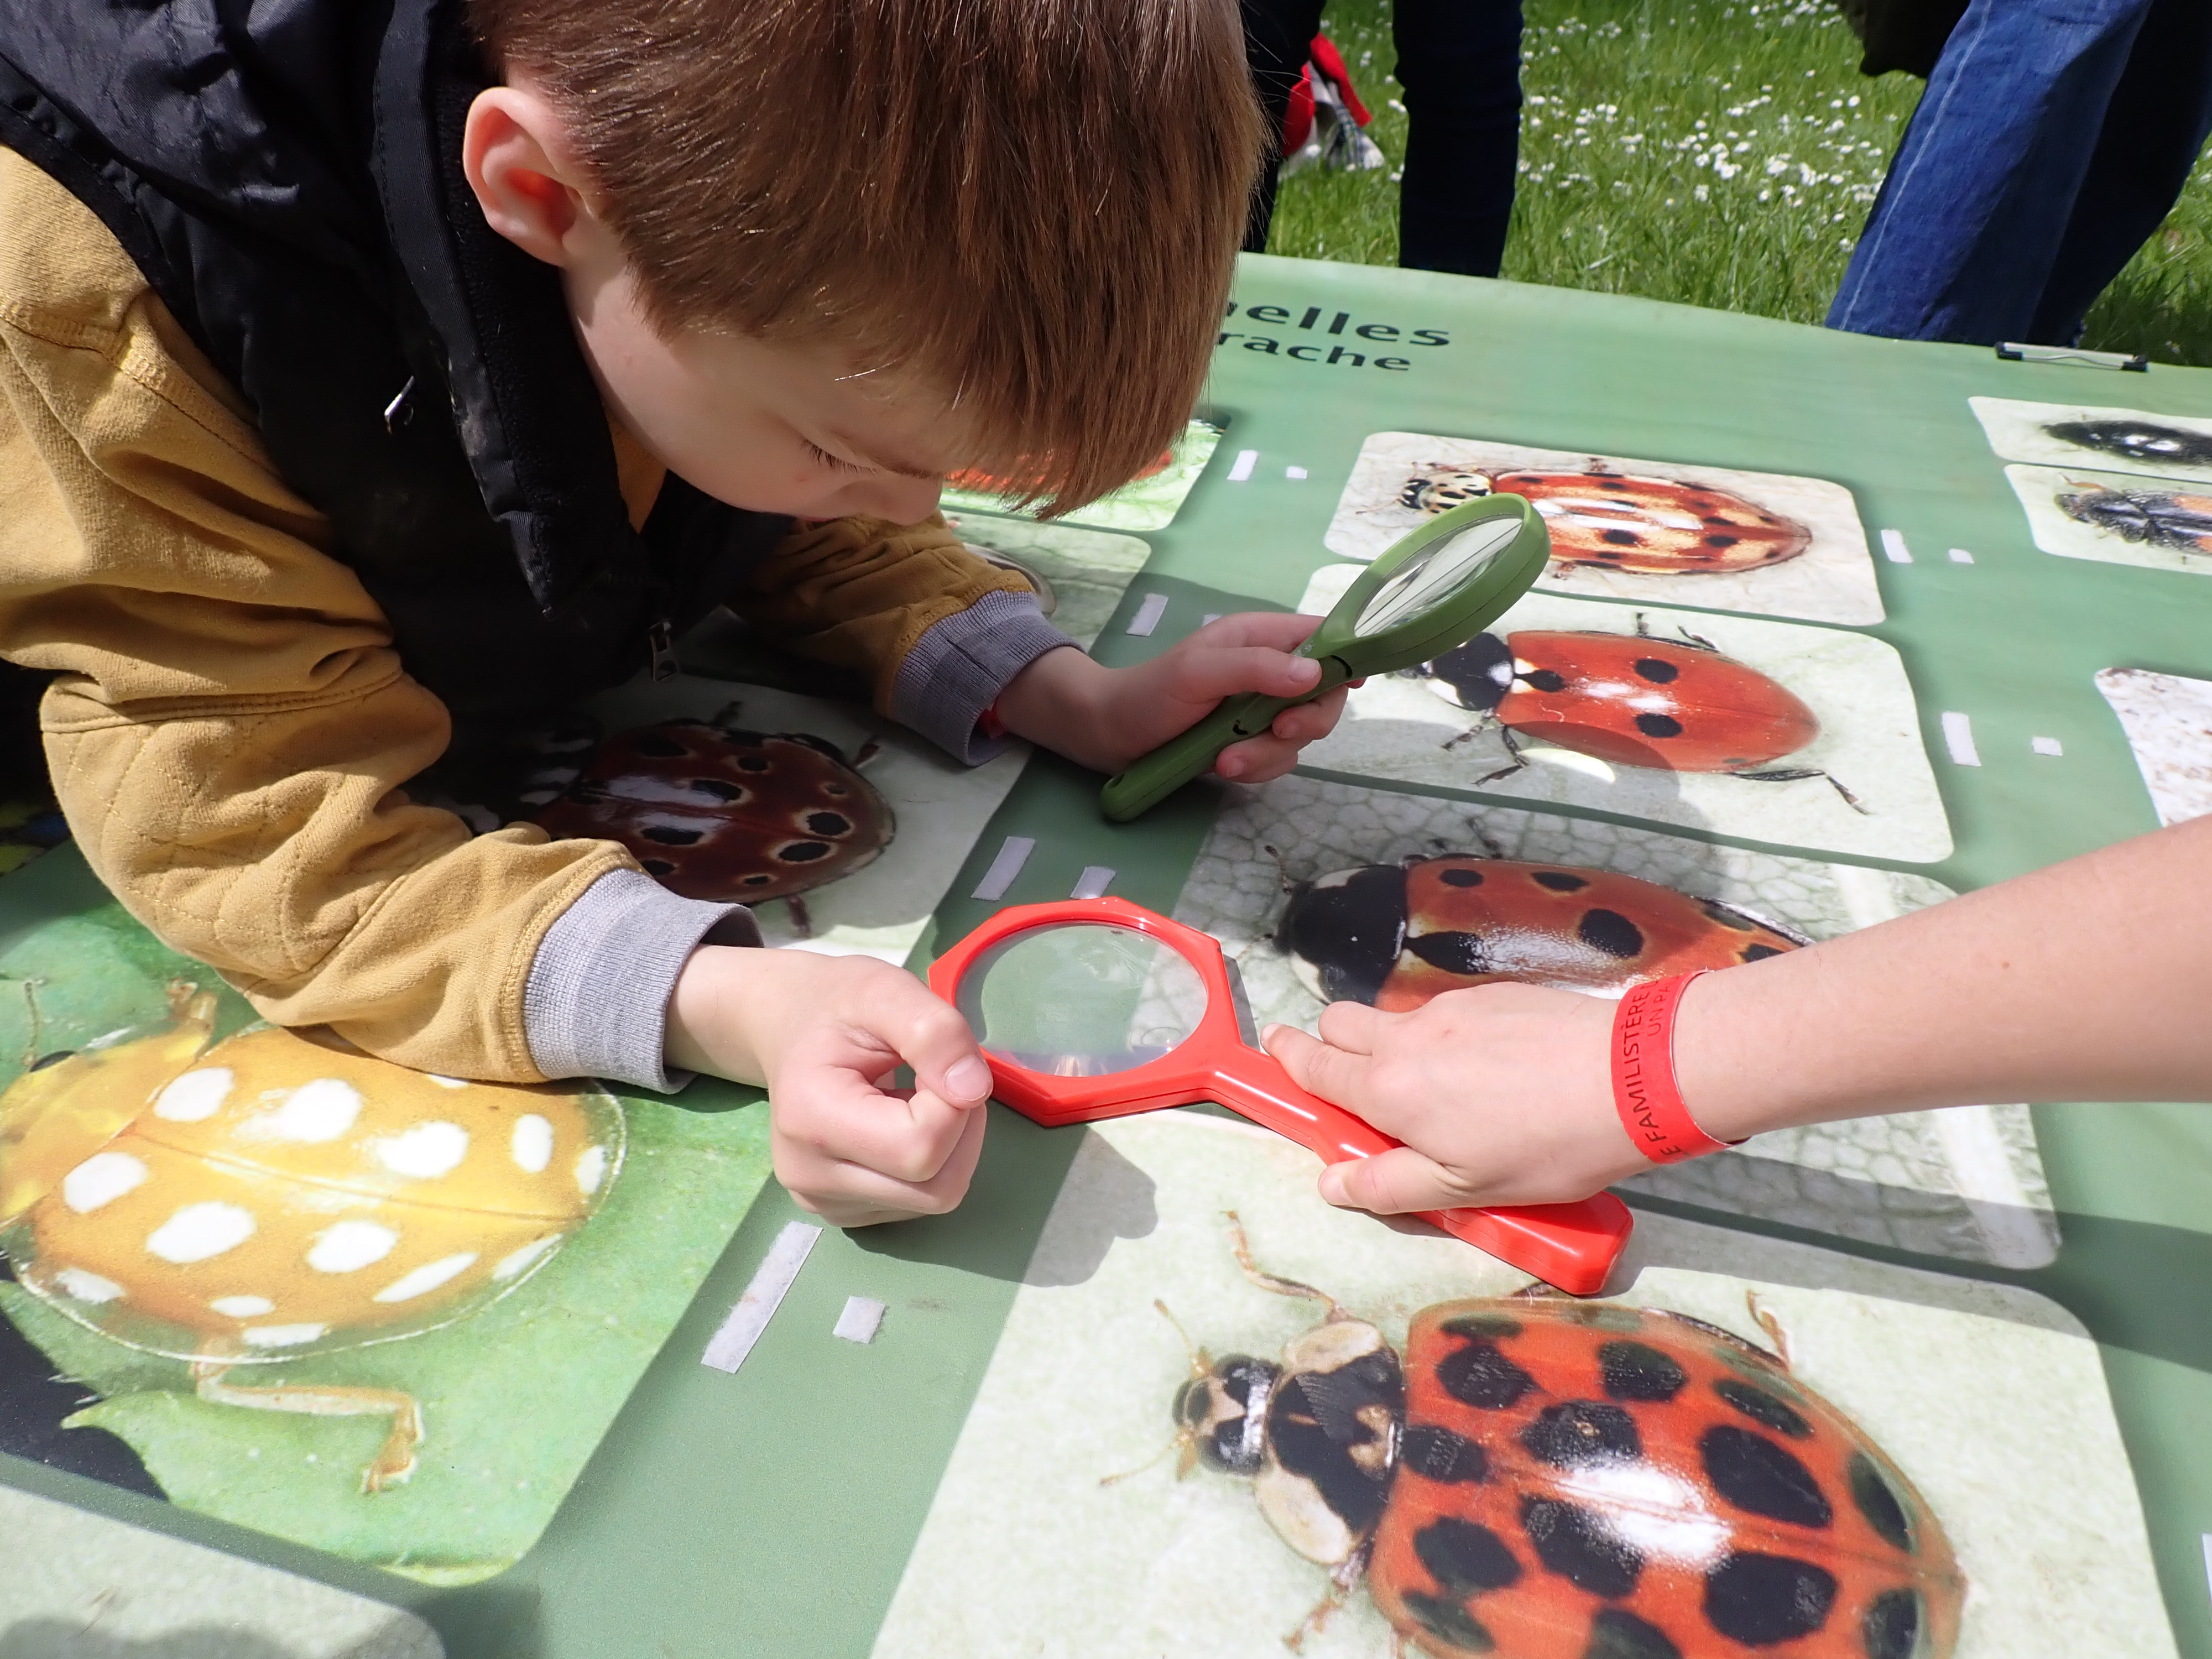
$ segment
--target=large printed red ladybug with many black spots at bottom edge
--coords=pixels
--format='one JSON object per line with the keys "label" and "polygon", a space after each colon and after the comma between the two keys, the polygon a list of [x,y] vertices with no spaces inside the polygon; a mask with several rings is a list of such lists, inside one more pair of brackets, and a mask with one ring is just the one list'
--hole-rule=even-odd
{"label": "large printed red ladybug with many black spots at bottom edge", "polygon": [[[1329,1593],[1431,1659],[1944,1659],[1966,1582],[1927,1500],[1783,1356],[1663,1310],[1524,1292],[1420,1310],[1405,1356],[1332,1296],[1281,1363],[1192,1352],[1179,1473],[1252,1480]],[[1759,1323],[1781,1336],[1752,1303]]]}

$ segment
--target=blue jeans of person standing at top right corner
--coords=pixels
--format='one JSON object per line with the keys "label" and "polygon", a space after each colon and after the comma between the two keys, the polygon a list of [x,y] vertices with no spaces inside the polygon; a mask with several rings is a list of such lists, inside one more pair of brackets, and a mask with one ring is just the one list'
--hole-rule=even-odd
{"label": "blue jeans of person standing at top right corner", "polygon": [[1827,314],[2073,345],[2212,131],[2212,0],[1973,0]]}

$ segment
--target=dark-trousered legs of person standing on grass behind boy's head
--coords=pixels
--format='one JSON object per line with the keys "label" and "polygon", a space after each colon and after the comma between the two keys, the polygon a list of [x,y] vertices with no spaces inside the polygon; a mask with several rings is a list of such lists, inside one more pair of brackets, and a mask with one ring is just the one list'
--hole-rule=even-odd
{"label": "dark-trousered legs of person standing on grass behind boy's head", "polygon": [[[1245,55],[1270,131],[1283,131],[1292,88],[1321,33],[1325,0],[1243,0]],[[1391,40],[1405,88],[1405,179],[1398,263],[1495,276],[1513,219],[1520,161],[1520,0],[1396,0]],[[1276,170],[1252,190],[1245,252],[1267,250]]]}

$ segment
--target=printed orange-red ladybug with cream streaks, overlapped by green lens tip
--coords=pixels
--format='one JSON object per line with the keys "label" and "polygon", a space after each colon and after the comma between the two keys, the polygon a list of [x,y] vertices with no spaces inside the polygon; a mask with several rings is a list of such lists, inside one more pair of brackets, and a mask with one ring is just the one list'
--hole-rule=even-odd
{"label": "printed orange-red ladybug with cream streaks, overlapped by green lens tip", "polygon": [[1409,478],[1398,504],[1447,513],[1489,493],[1528,498],[1551,531],[1551,557],[1595,571],[1734,575],[1812,546],[1809,529],[1743,495],[1599,460],[1579,473],[1438,469]]}

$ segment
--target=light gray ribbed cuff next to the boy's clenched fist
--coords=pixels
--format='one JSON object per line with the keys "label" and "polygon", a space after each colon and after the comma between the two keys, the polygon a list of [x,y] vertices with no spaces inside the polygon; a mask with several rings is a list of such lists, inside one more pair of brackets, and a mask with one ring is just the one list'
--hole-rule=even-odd
{"label": "light gray ribbed cuff next to the boy's clenched fist", "polygon": [[661,1048],[684,962],[714,945],[759,945],[743,905],[679,898],[637,869],[611,869],[546,929],[522,989],[522,1035],[546,1077],[681,1088]]}

